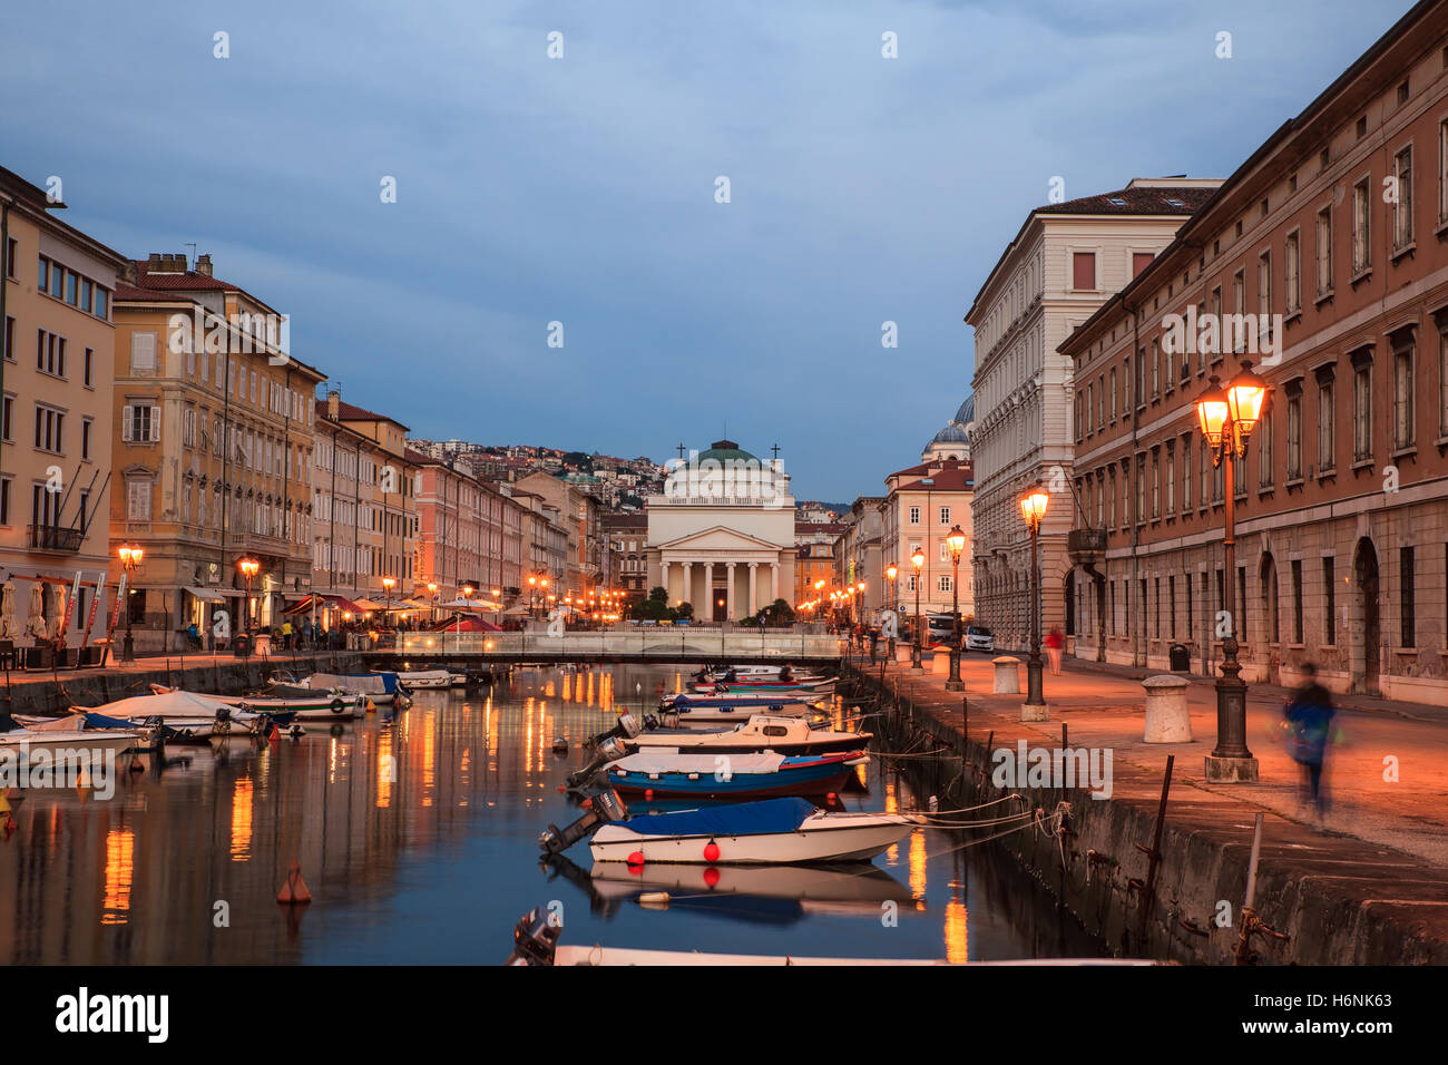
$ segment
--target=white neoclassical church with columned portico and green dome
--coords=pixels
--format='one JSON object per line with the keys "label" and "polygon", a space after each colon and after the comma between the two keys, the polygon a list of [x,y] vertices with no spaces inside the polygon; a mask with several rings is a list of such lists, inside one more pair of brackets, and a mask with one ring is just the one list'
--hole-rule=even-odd
{"label": "white neoclassical church with columned portico and green dome", "polygon": [[736,622],[795,587],[795,497],[779,459],[734,440],[669,459],[662,496],[647,500],[649,587],[694,617]]}

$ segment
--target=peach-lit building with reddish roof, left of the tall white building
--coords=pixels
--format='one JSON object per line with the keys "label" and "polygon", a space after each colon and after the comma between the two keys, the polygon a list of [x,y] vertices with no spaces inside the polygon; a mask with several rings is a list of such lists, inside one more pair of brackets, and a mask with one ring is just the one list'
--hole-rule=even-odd
{"label": "peach-lit building with reddish roof, left of the tall white building", "polygon": [[[925,564],[919,578],[921,613],[948,613],[954,601],[956,568],[946,538],[954,526],[966,533],[960,556],[960,614],[972,617],[976,603],[972,585],[972,509],[975,471],[960,459],[934,459],[898,469],[885,478],[886,496],[880,513],[880,590],[885,609],[915,613],[917,574],[911,555],[921,551]],[[885,567],[898,569],[893,587],[883,578]],[[866,585],[867,587],[867,585]]]}

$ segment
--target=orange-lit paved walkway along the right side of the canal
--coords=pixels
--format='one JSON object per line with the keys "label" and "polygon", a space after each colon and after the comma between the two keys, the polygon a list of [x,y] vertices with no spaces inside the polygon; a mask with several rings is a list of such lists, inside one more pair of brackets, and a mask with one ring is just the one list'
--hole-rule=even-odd
{"label": "orange-lit paved walkway along the right side of the canal", "polygon": [[[1448,710],[1360,696],[1334,697],[1338,729],[1323,772],[1329,806],[1323,823],[1318,824],[1300,800],[1302,771],[1286,752],[1281,707],[1290,694],[1287,688],[1248,687],[1247,745],[1258,759],[1258,782],[1212,784],[1205,780],[1205,755],[1216,743],[1213,681],[1190,678],[1190,743],[1145,743],[1141,739],[1145,693],[1140,677],[1148,672],[1066,659],[1056,677],[1047,664],[1043,691],[1050,720],[1022,723],[1024,696],[990,694],[992,658],[961,656],[970,735],[977,740],[999,723],[1003,727],[996,735],[1009,736],[1011,743],[1019,736],[1037,736],[1040,743],[1056,746],[1066,723],[1070,746],[1112,749],[1118,777],[1129,765],[1160,780],[1166,756],[1174,753],[1174,797],[1177,784],[1187,784],[1274,811],[1312,833],[1352,836],[1448,869]],[[867,658],[864,662],[863,668],[870,669]],[[906,693],[919,690],[940,704],[959,700],[957,694],[944,691],[941,677],[911,674],[908,667],[902,671],[895,664],[888,667],[886,677],[891,684],[899,678]],[[1025,688],[1024,658],[1021,688]],[[953,714],[959,719],[959,703]],[[1392,759],[1396,759],[1396,781],[1384,780]]]}

